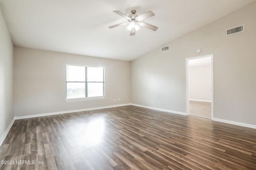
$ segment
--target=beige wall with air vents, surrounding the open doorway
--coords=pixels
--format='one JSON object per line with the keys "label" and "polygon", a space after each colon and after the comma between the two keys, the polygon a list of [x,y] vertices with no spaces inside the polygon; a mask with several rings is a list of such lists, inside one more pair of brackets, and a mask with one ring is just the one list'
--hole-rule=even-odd
{"label": "beige wall with air vents, surrounding the open doorway", "polygon": [[[256,2],[132,61],[132,103],[185,113],[186,58],[213,54],[214,117],[256,125],[255,9]],[[244,32],[225,36],[242,24]]]}

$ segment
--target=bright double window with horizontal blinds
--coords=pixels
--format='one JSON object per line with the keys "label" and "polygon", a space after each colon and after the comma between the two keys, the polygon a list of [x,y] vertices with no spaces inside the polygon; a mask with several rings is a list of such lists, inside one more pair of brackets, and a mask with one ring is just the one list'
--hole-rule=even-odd
{"label": "bright double window with horizontal blinds", "polygon": [[66,65],[66,101],[105,98],[104,68]]}

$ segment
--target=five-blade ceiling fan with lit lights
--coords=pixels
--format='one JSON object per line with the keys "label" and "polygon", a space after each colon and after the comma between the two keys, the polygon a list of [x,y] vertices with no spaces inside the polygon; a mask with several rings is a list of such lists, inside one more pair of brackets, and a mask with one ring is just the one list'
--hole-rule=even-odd
{"label": "five-blade ceiling fan with lit lights", "polygon": [[148,23],[142,22],[142,20],[155,15],[152,11],[145,12],[145,13],[141,14],[140,16],[138,16],[136,14],[136,10],[131,10],[132,14],[130,14],[129,16],[126,16],[125,14],[123,14],[120,11],[113,11],[113,12],[124,17],[128,22],[118,23],[116,25],[110,26],[109,28],[115,28],[115,27],[118,27],[121,25],[128,25],[127,29],[130,31],[130,35],[135,35],[136,31],[138,29],[140,29],[140,27],[146,27],[153,31],[156,31],[158,29],[158,27],[156,27],[154,25],[150,25]]}

